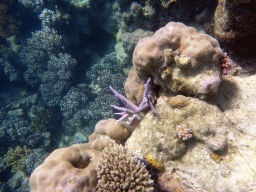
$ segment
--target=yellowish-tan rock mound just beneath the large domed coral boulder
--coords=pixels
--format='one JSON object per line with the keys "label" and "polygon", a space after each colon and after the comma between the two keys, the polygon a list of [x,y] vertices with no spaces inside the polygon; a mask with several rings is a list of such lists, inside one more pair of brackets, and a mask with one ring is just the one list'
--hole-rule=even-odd
{"label": "yellowish-tan rock mound just beneath the large domed coral boulder", "polygon": [[158,98],[157,114],[151,112],[144,116],[127,139],[127,148],[136,151],[140,158],[151,154],[157,161],[165,163],[177,159],[186,151],[186,143],[178,137],[176,131],[177,126],[184,124],[193,132],[193,137],[210,150],[225,150],[227,124],[221,111],[199,99],[184,99],[185,105],[171,107],[167,105],[167,97]]}

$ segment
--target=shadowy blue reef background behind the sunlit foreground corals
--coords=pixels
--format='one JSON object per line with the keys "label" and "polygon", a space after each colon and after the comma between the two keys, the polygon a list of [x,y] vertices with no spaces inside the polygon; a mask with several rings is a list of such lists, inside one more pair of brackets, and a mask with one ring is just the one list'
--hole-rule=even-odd
{"label": "shadowy blue reef background behind the sunlit foreground corals", "polygon": [[253,0],[1,0],[0,191],[30,191],[50,153],[118,118],[109,86],[125,95],[137,42],[168,22],[215,37],[232,59],[223,76],[255,74],[255,10]]}

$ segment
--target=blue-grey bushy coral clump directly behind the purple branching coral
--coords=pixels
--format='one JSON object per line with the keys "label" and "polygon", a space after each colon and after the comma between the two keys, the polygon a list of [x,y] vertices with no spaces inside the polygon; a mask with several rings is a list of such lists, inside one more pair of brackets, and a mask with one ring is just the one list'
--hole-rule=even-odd
{"label": "blue-grey bushy coral clump directly behind the purple branching coral", "polygon": [[85,118],[90,124],[96,124],[101,119],[113,117],[110,105],[118,103],[118,99],[109,89],[111,85],[119,93],[124,94],[125,76],[117,63],[115,53],[106,55],[99,64],[93,65],[86,74],[91,81],[91,87],[96,94],[94,101],[89,103]]}

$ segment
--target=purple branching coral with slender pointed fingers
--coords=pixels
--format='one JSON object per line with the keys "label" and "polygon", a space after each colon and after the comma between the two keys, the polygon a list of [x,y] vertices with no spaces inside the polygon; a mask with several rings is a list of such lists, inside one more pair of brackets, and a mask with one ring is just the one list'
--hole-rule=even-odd
{"label": "purple branching coral with slender pointed fingers", "polygon": [[151,90],[149,89],[149,83],[150,83],[151,78],[148,78],[147,83],[144,85],[145,86],[145,91],[143,94],[143,100],[140,103],[139,106],[135,105],[133,102],[131,102],[129,99],[124,97],[123,95],[120,95],[117,91],[115,91],[111,86],[110,89],[113,91],[115,96],[120,99],[120,101],[127,107],[117,107],[115,105],[111,105],[111,107],[121,111],[120,113],[115,113],[116,115],[122,115],[121,118],[119,118],[116,122],[119,123],[120,121],[127,119],[133,114],[136,114],[137,119],[141,119],[141,116],[139,115],[139,112],[143,111],[144,109],[150,107],[154,113],[156,113],[156,110],[153,106],[154,104],[154,97],[152,96]]}

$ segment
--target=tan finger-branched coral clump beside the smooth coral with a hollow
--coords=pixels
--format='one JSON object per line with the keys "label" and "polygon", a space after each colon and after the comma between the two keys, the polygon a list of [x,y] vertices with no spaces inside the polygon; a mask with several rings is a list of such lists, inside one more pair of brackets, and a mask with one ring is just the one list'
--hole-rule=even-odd
{"label": "tan finger-branched coral clump beside the smooth coral with a hollow", "polygon": [[97,171],[95,191],[154,191],[145,164],[121,145],[111,144],[103,150]]}

